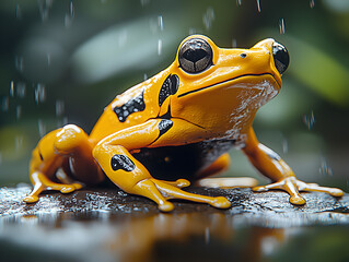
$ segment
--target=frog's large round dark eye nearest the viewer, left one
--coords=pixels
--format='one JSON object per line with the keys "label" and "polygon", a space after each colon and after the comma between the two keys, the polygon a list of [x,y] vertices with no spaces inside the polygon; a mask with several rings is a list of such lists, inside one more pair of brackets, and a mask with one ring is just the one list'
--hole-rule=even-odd
{"label": "frog's large round dark eye nearest the viewer, left one", "polygon": [[203,39],[191,38],[179,48],[178,60],[187,73],[200,73],[212,66],[212,48]]}

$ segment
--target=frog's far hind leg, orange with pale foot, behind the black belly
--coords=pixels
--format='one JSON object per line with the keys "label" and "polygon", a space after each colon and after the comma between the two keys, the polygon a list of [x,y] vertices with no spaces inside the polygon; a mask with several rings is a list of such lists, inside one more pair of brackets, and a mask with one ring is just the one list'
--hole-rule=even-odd
{"label": "frog's far hind leg, orange with pale foot, behind the black belly", "polygon": [[206,178],[219,172],[225,171],[231,163],[229,153],[221,155],[209,167],[198,174],[200,178],[196,181],[196,186],[206,188],[235,188],[235,187],[255,187],[258,181],[249,177],[222,177],[222,178]]}

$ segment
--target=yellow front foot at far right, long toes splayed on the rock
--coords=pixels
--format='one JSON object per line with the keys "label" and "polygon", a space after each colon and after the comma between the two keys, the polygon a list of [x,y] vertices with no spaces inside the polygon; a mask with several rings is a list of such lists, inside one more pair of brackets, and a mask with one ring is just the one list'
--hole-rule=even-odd
{"label": "yellow front foot at far right, long toes splayed on the rock", "polygon": [[255,192],[264,192],[270,189],[284,190],[290,194],[290,202],[295,205],[305,204],[305,200],[301,196],[300,191],[316,191],[329,193],[333,196],[344,195],[344,191],[337,188],[321,187],[317,183],[306,183],[298,180],[295,177],[287,177],[280,179],[275,183],[267,186],[254,187],[252,190]]}

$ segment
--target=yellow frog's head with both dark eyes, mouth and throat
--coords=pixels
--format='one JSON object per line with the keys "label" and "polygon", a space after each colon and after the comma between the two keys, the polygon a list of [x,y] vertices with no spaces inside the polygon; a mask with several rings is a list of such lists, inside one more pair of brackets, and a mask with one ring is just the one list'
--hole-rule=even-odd
{"label": "yellow frog's head with both dark eyes, mouth and throat", "polygon": [[212,119],[219,115],[253,119],[279,93],[288,66],[287,49],[270,38],[251,49],[228,49],[206,36],[193,35],[182,41],[168,68],[179,82],[172,104],[186,119],[203,114]]}

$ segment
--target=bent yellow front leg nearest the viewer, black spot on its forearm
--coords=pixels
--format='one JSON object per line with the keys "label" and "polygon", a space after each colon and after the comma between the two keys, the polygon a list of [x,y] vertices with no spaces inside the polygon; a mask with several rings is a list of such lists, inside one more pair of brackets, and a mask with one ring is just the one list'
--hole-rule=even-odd
{"label": "bent yellow front leg nearest the viewer, black spot on its forearm", "polygon": [[147,168],[130,152],[142,147],[174,145],[181,141],[191,141],[193,129],[198,127],[179,119],[151,119],[142,124],[116,132],[102,140],[93,150],[93,156],[120,189],[128,193],[149,198],[158,203],[164,212],[173,210],[168,199],[184,199],[208,203],[212,206],[226,209],[231,204],[223,198],[211,198],[183,191],[189,181],[178,179],[166,182],[154,179]]}

